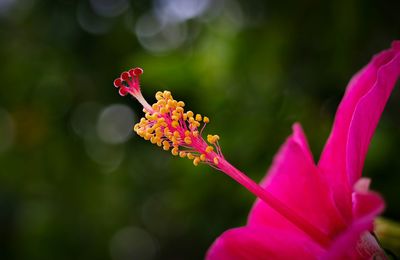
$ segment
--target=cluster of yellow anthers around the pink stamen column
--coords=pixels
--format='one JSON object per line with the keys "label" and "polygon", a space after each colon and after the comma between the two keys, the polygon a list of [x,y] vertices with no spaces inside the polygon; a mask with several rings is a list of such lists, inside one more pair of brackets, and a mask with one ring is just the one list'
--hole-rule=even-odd
{"label": "cluster of yellow anthers around the pink stamen column", "polygon": [[201,162],[217,166],[222,157],[219,136],[208,135],[208,143],[201,137],[210,119],[192,111],[185,112],[185,103],[174,100],[169,91],[157,92],[156,99],[151,110],[143,109],[145,117],[134,126],[134,131],[164,150],[171,150],[175,156],[193,160],[195,166]]}

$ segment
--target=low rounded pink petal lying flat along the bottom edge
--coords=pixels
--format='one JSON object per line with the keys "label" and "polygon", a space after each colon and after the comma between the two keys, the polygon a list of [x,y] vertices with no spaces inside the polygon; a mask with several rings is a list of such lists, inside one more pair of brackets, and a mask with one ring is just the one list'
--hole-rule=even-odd
{"label": "low rounded pink petal lying flat along the bottom edge", "polygon": [[207,252],[208,260],[317,259],[324,250],[299,232],[267,227],[226,231]]}

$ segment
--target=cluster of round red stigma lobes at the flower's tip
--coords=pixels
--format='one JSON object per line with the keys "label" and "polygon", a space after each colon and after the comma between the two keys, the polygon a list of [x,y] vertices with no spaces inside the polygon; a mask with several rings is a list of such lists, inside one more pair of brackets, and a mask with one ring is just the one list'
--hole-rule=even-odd
{"label": "cluster of round red stigma lobes at the flower's tip", "polygon": [[143,74],[143,69],[134,68],[129,72],[122,72],[121,76],[114,80],[114,86],[119,88],[119,94],[126,96],[128,93],[135,96],[140,92],[139,76]]}

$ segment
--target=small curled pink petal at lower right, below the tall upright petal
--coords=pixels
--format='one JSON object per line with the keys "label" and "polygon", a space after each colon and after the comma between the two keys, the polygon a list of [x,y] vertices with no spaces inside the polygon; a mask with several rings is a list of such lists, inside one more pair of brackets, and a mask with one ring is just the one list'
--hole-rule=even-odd
{"label": "small curled pink petal at lower right, below the tall upright petal", "polygon": [[[340,234],[323,259],[385,259],[376,239],[368,232],[384,209],[383,199],[376,193],[353,193],[355,221]],[[366,232],[367,231],[367,232]]]}

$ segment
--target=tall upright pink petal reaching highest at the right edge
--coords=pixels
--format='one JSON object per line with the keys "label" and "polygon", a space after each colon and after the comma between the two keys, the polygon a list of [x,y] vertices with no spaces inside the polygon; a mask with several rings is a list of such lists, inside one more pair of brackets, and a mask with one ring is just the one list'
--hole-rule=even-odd
{"label": "tall upright pink petal reaching highest at the right edge", "polygon": [[360,178],[372,135],[400,76],[400,42],[376,55],[350,81],[319,162],[335,201],[351,219],[351,192]]}

